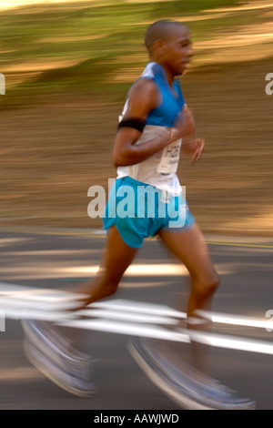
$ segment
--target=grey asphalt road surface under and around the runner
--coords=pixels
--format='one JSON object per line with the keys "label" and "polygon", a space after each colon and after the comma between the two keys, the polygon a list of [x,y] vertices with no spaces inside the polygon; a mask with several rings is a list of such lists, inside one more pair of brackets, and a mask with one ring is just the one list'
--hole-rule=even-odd
{"label": "grey asphalt road surface under and around the runner", "polygon": [[[94,274],[104,245],[104,236],[78,230],[0,231],[1,282],[30,287],[66,289]],[[213,260],[221,274],[214,310],[264,317],[273,310],[273,239],[206,236]],[[143,265],[157,265],[153,275]],[[179,273],[157,239],[147,240],[115,298],[147,301],[181,309],[187,305],[187,276]],[[176,269],[175,269],[176,268]],[[152,267],[150,267],[152,269]],[[162,271],[163,270],[163,271]],[[137,274],[136,274],[137,273]],[[222,327],[223,332],[235,328]],[[273,341],[273,332],[238,328],[238,334]],[[126,350],[127,336],[86,331],[82,345],[96,359],[98,391],[92,399],[76,398],[49,382],[26,361],[19,321],[6,320],[0,332],[0,409],[81,410],[178,410],[151,383]],[[187,352],[187,344],[183,352]],[[273,356],[213,348],[216,377],[250,396],[258,409],[273,409]]]}

